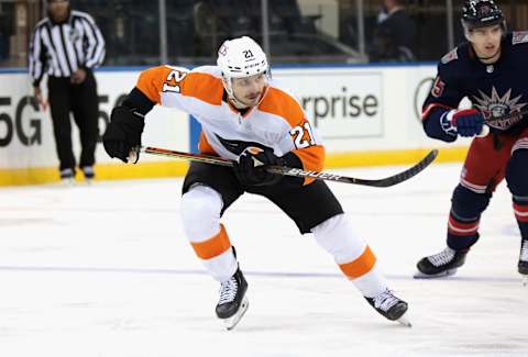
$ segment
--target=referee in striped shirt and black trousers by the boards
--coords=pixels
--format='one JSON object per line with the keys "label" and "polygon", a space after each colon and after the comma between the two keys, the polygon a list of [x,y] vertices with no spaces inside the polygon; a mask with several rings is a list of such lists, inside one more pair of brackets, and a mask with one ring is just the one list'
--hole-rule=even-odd
{"label": "referee in striped shirt and black trousers by the boards", "polygon": [[92,68],[103,59],[105,40],[94,19],[70,10],[67,0],[48,0],[47,18],[36,24],[31,40],[29,71],[42,110],[47,108],[47,101],[40,83],[44,74],[48,76],[48,101],[63,182],[74,181],[76,168],[70,112],[80,133],[79,168],[86,180],[95,177],[99,100]]}

